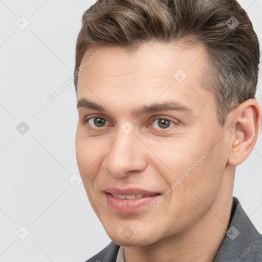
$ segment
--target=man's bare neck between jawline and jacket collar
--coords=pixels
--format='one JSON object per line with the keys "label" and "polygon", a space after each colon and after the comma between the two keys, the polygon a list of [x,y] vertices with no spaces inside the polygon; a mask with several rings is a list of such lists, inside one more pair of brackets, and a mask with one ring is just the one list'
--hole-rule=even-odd
{"label": "man's bare neck between jawline and jacket collar", "polygon": [[162,239],[150,246],[124,247],[125,262],[212,262],[230,222],[232,177],[225,174],[221,190],[212,208],[202,219],[180,235]]}

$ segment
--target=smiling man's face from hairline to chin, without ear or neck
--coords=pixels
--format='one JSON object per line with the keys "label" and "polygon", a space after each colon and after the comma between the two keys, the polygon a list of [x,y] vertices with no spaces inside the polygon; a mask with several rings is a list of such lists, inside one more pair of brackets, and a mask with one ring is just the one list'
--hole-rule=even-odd
{"label": "smiling man's face from hairline to chin, without ear or neck", "polygon": [[[145,246],[185,233],[225,189],[227,134],[214,96],[202,87],[205,49],[151,41],[133,53],[90,48],[82,62],[90,56],[78,80],[76,154],[94,211],[118,245]],[[166,101],[172,110],[152,107]]]}

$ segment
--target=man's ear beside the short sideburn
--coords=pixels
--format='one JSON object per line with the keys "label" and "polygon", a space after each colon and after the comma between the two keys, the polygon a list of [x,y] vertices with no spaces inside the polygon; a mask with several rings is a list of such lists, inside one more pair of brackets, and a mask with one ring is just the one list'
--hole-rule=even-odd
{"label": "man's ear beside the short sideburn", "polygon": [[226,132],[231,134],[228,165],[237,166],[248,158],[257,140],[260,118],[255,99],[246,100],[232,112],[230,122],[225,124]]}

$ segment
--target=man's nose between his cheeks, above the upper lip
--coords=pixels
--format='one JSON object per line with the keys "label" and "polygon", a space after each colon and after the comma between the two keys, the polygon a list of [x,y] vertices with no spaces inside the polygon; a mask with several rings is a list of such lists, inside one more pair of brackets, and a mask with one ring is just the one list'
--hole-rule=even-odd
{"label": "man's nose between his cheeks, above the upper lip", "polygon": [[145,145],[134,131],[126,135],[120,129],[107,150],[102,167],[118,178],[143,171],[147,167],[146,156],[143,154],[145,150]]}

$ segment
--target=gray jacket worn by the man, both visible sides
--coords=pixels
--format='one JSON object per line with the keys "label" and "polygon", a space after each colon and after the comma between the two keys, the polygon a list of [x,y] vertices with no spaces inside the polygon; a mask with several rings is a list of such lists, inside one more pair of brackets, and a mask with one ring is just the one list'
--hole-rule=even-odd
{"label": "gray jacket worn by the man, both visible sides", "polygon": [[[262,235],[233,197],[230,225],[213,262],[262,262]],[[85,262],[116,262],[120,246],[111,242]]]}

